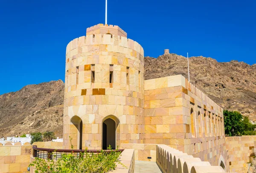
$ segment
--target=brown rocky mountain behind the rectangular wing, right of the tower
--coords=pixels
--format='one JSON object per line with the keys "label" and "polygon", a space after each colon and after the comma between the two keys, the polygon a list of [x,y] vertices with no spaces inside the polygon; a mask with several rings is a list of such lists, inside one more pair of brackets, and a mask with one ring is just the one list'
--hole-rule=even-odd
{"label": "brown rocky mountain behind the rectangular wing, right of the tower", "polygon": [[[190,82],[222,108],[240,111],[256,120],[256,64],[189,58]],[[176,54],[145,57],[145,79],[182,74],[188,78],[187,59]]]}

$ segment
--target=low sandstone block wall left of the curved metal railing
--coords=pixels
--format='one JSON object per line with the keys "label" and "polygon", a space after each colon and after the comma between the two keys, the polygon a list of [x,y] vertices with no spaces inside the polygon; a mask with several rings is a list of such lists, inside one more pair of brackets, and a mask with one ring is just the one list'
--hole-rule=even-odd
{"label": "low sandstone block wall left of the curved metal railing", "polygon": [[0,146],[0,173],[27,173],[32,146]]}

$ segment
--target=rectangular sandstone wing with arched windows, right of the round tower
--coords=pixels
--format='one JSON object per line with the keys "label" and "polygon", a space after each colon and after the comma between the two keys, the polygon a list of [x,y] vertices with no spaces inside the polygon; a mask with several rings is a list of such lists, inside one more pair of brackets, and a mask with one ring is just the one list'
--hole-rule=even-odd
{"label": "rectangular sandstone wing with arched windows, right of the round tower", "polygon": [[226,164],[223,109],[182,75],[145,80],[145,143]]}

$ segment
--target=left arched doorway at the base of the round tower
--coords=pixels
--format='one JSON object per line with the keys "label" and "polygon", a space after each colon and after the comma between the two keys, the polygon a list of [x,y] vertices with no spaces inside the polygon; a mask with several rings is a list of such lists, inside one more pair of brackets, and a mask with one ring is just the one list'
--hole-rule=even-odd
{"label": "left arched doorway at the base of the round tower", "polygon": [[70,119],[69,132],[74,149],[82,149],[83,122],[79,116]]}

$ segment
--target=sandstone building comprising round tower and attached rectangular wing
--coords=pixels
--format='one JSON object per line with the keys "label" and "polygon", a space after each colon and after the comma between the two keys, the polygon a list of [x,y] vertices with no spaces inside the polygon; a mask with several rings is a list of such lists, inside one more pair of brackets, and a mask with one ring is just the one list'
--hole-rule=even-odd
{"label": "sandstone building comprising round tower and attached rectangular wing", "polygon": [[181,75],[144,80],[142,46],[103,24],[67,45],[63,147],[70,143],[165,144],[211,164],[227,160],[223,109]]}

